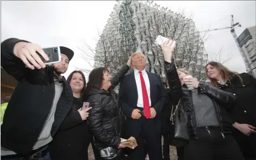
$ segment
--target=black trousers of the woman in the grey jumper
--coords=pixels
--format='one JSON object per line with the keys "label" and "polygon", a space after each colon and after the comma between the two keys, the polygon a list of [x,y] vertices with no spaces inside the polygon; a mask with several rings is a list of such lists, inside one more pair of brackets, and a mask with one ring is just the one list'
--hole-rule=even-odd
{"label": "black trousers of the woman in the grey jumper", "polygon": [[219,126],[196,128],[199,139],[190,139],[185,145],[186,160],[244,160],[232,135],[222,138]]}

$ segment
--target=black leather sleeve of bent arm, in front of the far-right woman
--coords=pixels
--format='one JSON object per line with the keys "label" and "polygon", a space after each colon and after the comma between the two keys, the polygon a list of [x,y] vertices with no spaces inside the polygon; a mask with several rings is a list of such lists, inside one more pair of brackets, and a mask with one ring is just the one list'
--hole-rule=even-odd
{"label": "black leather sleeve of bent arm, in front of the far-right woman", "polygon": [[198,93],[204,93],[214,101],[224,106],[234,106],[236,101],[235,94],[220,90],[211,84],[200,82],[198,85]]}

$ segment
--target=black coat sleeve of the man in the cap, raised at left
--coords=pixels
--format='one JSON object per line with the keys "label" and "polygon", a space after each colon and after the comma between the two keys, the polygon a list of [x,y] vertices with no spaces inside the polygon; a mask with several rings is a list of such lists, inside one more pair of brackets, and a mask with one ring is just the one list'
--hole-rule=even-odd
{"label": "black coat sleeve of the man in the cap, raised at left", "polygon": [[22,81],[27,77],[30,69],[14,55],[14,46],[18,42],[28,42],[17,38],[9,38],[1,43],[1,66],[13,76],[17,81]]}

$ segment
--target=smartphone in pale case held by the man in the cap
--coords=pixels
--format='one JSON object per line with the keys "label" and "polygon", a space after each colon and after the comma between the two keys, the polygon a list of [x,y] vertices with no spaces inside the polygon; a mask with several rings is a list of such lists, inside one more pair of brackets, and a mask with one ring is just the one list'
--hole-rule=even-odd
{"label": "smartphone in pale case held by the man in the cap", "polygon": [[37,55],[42,59],[42,61],[45,65],[61,62],[60,46],[54,46],[54,47],[50,47],[50,48],[43,48],[43,51],[49,57],[49,61],[45,61],[45,59],[39,53],[37,53]]}

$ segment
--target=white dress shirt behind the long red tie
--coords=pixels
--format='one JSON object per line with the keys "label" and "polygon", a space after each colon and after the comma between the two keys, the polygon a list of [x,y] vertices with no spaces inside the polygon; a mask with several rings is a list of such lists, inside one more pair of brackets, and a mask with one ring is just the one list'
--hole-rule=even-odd
{"label": "white dress shirt behind the long red tie", "polygon": [[[149,101],[149,106],[151,106],[151,99],[150,99],[150,83],[148,79],[148,74],[146,70],[142,70],[142,76],[146,84],[146,89],[148,93],[148,101]],[[135,76],[135,81],[137,85],[137,91],[138,91],[138,101],[137,101],[137,107],[143,108],[143,96],[142,96],[142,88],[141,88],[141,81],[140,81],[140,73],[139,70],[134,69],[134,76]]]}

